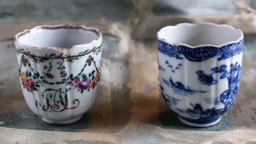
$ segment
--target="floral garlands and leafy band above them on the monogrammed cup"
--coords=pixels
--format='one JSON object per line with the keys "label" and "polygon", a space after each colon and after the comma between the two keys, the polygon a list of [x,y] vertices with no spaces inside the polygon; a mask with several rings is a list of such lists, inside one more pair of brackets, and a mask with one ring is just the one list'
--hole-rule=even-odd
{"label": "floral garlands and leafy band above them on the monogrammed cup", "polygon": [[[96,62],[94,61],[94,58],[92,56],[89,56],[86,60],[86,63],[84,64],[83,68],[80,70],[80,73],[78,75],[74,76],[73,74],[70,74],[69,76],[66,73],[66,67],[63,65],[64,60],[66,59],[66,62],[74,62],[74,60],[79,60],[81,56],[84,56],[88,53],[89,50],[79,53],[77,56],[66,56],[61,57],[63,54],[60,54],[59,56],[56,56],[56,54],[50,54],[48,57],[47,55],[45,57],[38,57],[33,56],[30,54],[30,52],[24,52],[23,49],[18,49],[17,54],[22,52],[24,55],[22,55],[20,66],[18,66],[19,74],[21,76],[22,86],[24,89],[26,89],[28,92],[33,93],[33,91],[38,91],[37,88],[40,86],[43,86],[43,84],[49,84],[49,85],[58,85],[58,84],[66,84],[66,86],[73,86],[74,89],[78,89],[77,91],[80,91],[80,93],[83,93],[85,90],[90,91],[90,89],[94,89],[97,85],[97,82],[100,81],[100,67],[98,68],[96,66]],[[95,47],[91,50],[95,55],[98,55],[101,51],[101,47],[99,49],[95,49]],[[89,51],[90,52],[90,51]],[[55,78],[54,75],[51,74],[52,70],[52,60],[48,62],[48,64],[45,64],[43,66],[43,73],[40,75],[39,72],[35,72],[34,69],[31,67],[31,64],[28,62],[28,59],[25,58],[25,56],[28,56],[33,62],[36,63],[45,63],[50,60],[50,56],[54,56],[56,58],[60,58],[61,60],[57,62],[58,64],[58,70],[60,70],[60,75],[63,78],[62,81],[59,82],[49,82],[48,80],[52,80]],[[78,58],[79,57],[79,58]],[[85,74],[84,68],[88,65],[91,66],[91,64],[94,64],[95,70],[92,70],[92,72],[89,72],[89,74]],[[32,70],[31,72],[21,72],[21,67],[23,66],[29,66]]]}

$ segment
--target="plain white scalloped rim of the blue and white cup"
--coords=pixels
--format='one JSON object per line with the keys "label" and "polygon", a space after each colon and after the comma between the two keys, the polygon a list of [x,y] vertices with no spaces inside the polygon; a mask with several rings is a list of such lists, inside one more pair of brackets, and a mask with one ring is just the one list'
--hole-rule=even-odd
{"label": "plain white scalloped rim of the blue and white cup", "polygon": [[[188,44],[185,44],[185,43],[170,43],[168,42],[166,39],[160,37],[159,33],[161,31],[165,31],[167,28],[176,28],[176,27],[179,27],[179,26],[185,26],[185,27],[191,27],[191,26],[195,26],[195,25],[210,25],[210,26],[214,26],[214,27],[226,27],[228,29],[232,29],[232,30],[235,30],[235,31],[239,31],[240,32],[240,37],[236,40],[236,41],[230,41],[228,43],[224,43],[224,44],[221,44],[221,45],[197,45],[197,46],[190,46]],[[185,47],[190,47],[190,48],[198,48],[198,47],[223,47],[225,45],[229,45],[229,44],[232,44],[232,43],[238,43],[239,41],[241,41],[242,39],[244,39],[244,34],[243,32],[240,30],[240,29],[235,29],[234,27],[230,26],[230,25],[225,25],[225,24],[222,24],[222,25],[218,25],[218,24],[215,24],[215,23],[179,23],[177,25],[174,25],[174,26],[166,26],[166,27],[163,27],[162,29],[160,29],[158,32],[157,32],[157,38],[165,43],[168,43],[170,45],[173,45],[173,46],[185,46]]]}

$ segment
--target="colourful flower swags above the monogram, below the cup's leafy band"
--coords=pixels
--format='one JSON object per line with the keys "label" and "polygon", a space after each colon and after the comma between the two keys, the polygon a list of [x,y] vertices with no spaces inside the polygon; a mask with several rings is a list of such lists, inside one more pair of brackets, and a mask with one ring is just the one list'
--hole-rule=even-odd
{"label": "colourful flower swags above the monogram, below the cup's leafy band", "polygon": [[[84,68],[88,65],[91,66],[91,64],[94,64],[96,67],[96,70],[92,70],[89,74],[85,74]],[[26,66],[27,64],[31,66],[30,63],[28,63],[28,60],[22,56],[22,64]],[[48,79],[54,79],[55,76],[52,75],[50,72],[52,70],[52,61],[48,63],[48,65],[43,66],[43,74],[39,74],[39,72],[34,72],[33,68],[31,68],[33,74],[31,72],[21,72],[21,80],[22,80],[22,86],[24,89],[26,89],[28,92],[38,91],[36,87],[43,86],[43,84],[66,84],[66,86],[71,85],[74,86],[74,89],[78,89],[81,93],[84,92],[84,90],[90,91],[90,89],[94,89],[97,85],[97,82],[100,80],[100,67],[97,68],[96,62],[94,61],[94,58],[92,56],[89,56],[86,60],[86,64],[84,64],[83,68],[80,70],[80,73],[78,73],[77,76],[74,76],[73,74],[70,74],[70,76],[66,73],[66,67],[63,65],[63,62],[59,61],[57,62],[58,70],[60,70],[60,75],[63,78],[62,81],[59,82],[49,82]]]}

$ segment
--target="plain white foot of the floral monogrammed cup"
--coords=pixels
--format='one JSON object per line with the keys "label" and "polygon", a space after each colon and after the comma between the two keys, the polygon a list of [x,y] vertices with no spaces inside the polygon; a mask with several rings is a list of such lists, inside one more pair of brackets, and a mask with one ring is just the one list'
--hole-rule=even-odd
{"label": "plain white foot of the floral monogrammed cup", "polygon": [[48,123],[50,125],[68,125],[68,124],[72,124],[72,123],[75,123],[75,122],[79,121],[82,117],[83,117],[83,115],[80,115],[78,117],[74,117],[72,119],[67,119],[67,120],[63,120],[63,121],[62,120],[47,119],[47,118],[42,117],[42,120],[45,123]]}

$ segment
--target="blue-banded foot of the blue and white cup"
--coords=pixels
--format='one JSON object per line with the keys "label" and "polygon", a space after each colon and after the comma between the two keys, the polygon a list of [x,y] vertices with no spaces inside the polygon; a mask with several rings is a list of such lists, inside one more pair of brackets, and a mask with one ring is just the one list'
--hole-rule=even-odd
{"label": "blue-banded foot of the blue and white cup", "polygon": [[192,119],[186,119],[184,117],[180,117],[178,116],[179,120],[184,123],[185,125],[189,125],[189,126],[194,126],[194,127],[208,127],[208,126],[213,126],[215,124],[217,124],[220,121],[220,117],[216,117],[215,119],[211,119],[211,120],[192,120]]}

